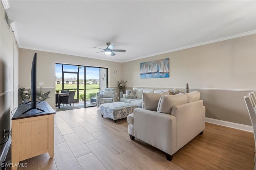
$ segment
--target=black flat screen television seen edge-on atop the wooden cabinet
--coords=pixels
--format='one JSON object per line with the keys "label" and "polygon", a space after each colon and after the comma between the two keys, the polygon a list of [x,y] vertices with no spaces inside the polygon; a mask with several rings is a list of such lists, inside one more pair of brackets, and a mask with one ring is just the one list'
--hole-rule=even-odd
{"label": "black flat screen television seen edge-on atop the wooden cabinet", "polygon": [[37,109],[40,111],[44,111],[42,109],[39,109],[36,107],[36,53],[34,54],[34,58],[32,61],[32,67],[31,67],[31,108],[24,111],[22,114],[27,113],[28,111],[32,109]]}

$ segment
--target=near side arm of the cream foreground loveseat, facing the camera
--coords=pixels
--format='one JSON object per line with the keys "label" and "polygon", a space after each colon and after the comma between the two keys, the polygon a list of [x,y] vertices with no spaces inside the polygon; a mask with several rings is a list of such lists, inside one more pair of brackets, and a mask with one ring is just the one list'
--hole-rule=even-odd
{"label": "near side arm of the cream foreground loveseat, facing the camera", "polygon": [[134,136],[172,155],[176,152],[176,117],[142,108],[134,109]]}

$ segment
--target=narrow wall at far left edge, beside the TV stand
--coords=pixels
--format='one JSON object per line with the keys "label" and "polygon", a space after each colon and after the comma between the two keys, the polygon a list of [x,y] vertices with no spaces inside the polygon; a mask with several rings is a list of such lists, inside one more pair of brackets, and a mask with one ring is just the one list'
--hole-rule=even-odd
{"label": "narrow wall at far left edge, beside the TV stand", "polygon": [[[16,41],[12,30],[4,20],[4,8],[0,2],[0,143],[3,143],[3,130],[11,129],[11,111],[14,103],[14,46]],[[16,91],[17,92],[17,91]],[[1,151],[2,147],[1,146]]]}

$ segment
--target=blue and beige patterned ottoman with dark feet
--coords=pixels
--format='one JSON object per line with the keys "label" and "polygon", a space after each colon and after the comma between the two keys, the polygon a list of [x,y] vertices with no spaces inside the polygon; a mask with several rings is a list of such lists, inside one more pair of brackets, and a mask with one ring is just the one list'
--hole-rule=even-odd
{"label": "blue and beige patterned ottoman with dark feet", "polygon": [[124,102],[113,102],[100,105],[100,114],[103,117],[109,117],[116,120],[127,117],[128,114],[133,113],[133,109],[138,106],[124,103]]}

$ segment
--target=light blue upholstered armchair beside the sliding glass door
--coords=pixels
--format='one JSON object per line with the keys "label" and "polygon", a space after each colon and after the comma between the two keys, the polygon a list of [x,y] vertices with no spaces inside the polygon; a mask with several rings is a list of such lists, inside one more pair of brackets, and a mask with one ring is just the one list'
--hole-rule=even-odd
{"label": "light blue upholstered armchair beside the sliding glass door", "polygon": [[97,107],[100,107],[101,104],[112,102],[117,102],[117,93],[115,88],[105,88],[104,91],[97,94]]}

